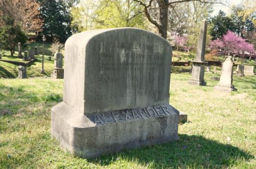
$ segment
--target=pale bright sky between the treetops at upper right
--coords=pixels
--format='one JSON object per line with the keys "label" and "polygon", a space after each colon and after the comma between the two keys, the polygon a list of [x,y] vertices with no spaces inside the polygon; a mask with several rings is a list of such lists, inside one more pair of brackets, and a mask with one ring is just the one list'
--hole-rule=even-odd
{"label": "pale bright sky between the treetops at upper right", "polygon": [[[232,6],[232,5],[238,5],[241,4],[244,0],[226,0],[226,1],[222,1],[224,4],[227,4],[228,6]],[[222,4],[215,4],[213,6],[213,12],[212,12],[212,16],[215,16],[219,13],[219,10],[223,10],[227,15],[231,14],[231,9],[229,9],[228,7],[226,7],[225,5]]]}

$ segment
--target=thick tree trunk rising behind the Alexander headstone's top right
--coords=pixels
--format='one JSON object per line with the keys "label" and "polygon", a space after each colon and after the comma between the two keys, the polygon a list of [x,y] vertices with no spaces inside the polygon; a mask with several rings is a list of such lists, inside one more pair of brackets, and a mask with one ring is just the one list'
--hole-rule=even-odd
{"label": "thick tree trunk rising behind the Alexander headstone's top right", "polygon": [[[159,21],[160,21],[160,29],[158,29],[159,34],[167,39],[167,25],[168,25],[168,0],[164,1],[157,1],[159,8],[160,8],[160,15],[159,15]],[[163,3],[164,2],[164,3]]]}

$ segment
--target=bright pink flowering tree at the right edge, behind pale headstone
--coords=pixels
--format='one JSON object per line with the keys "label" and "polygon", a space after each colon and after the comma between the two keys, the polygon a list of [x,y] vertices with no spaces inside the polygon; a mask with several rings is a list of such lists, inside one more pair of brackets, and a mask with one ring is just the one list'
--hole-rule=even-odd
{"label": "bright pink flowering tree at the right edge, behind pale headstone", "polygon": [[229,54],[241,54],[245,56],[245,53],[249,53],[250,56],[255,53],[253,45],[246,42],[246,40],[232,31],[227,31],[223,38],[217,38],[211,42],[211,48],[219,49],[224,55]]}

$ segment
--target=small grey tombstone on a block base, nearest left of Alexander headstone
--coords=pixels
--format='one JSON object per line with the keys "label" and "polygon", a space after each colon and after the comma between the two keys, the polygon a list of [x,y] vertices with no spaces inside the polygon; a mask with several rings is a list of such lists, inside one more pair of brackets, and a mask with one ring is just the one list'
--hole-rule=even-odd
{"label": "small grey tombstone on a block base, nearest left of Alexander headstone", "polygon": [[53,79],[63,79],[64,69],[62,68],[62,58],[63,55],[60,53],[60,46],[58,47],[58,52],[54,55],[54,71],[52,74]]}

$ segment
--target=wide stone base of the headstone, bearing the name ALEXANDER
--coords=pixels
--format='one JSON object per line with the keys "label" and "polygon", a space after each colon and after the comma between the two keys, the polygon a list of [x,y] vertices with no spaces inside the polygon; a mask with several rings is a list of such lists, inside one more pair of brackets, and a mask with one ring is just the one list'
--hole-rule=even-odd
{"label": "wide stone base of the headstone, bearing the name ALEXANDER", "polygon": [[82,158],[178,139],[179,112],[170,105],[84,115],[67,103],[52,108],[52,136]]}

